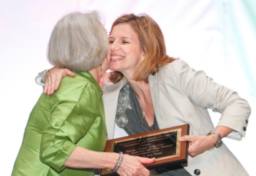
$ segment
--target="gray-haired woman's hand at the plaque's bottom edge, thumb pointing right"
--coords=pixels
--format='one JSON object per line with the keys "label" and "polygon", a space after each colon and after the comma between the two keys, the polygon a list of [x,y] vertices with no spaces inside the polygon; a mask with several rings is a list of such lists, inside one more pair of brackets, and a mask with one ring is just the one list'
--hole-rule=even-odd
{"label": "gray-haired woman's hand at the plaque's bottom edge, thumb pointing right", "polygon": [[149,170],[144,167],[143,164],[151,164],[155,161],[155,158],[130,156],[125,154],[123,161],[117,170],[119,175],[146,175],[150,174]]}

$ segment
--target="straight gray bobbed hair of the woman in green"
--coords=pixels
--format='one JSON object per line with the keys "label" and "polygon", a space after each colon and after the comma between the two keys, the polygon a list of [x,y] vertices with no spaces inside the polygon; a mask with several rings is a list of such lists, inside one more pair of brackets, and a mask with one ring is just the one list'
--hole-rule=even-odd
{"label": "straight gray bobbed hair of the woman in green", "polygon": [[47,56],[59,68],[89,71],[100,66],[107,51],[107,32],[98,12],[72,12],[52,30]]}

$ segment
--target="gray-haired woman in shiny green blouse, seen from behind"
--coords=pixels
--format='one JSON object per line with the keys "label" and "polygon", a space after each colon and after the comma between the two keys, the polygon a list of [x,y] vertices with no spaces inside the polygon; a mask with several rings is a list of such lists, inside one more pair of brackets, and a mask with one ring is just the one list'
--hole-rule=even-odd
{"label": "gray-haired woman in shiny green blouse, seen from behind", "polygon": [[107,129],[98,83],[108,69],[107,51],[107,32],[98,12],[73,12],[57,22],[48,59],[75,77],[65,77],[53,95],[40,95],[12,175],[94,175],[93,169],[102,168],[120,175],[149,175],[142,164],[154,159],[103,152]]}

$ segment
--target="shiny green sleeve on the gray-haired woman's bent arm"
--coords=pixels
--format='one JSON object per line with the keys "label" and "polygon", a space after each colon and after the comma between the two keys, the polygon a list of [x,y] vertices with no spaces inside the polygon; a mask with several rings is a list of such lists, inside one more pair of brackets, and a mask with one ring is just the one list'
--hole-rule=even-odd
{"label": "shiny green sleeve on the gray-haired woman's bent arm", "polygon": [[75,144],[87,134],[95,119],[99,99],[90,84],[60,87],[54,96],[54,107],[42,134],[40,160],[58,172],[73,152]]}

